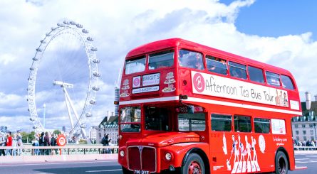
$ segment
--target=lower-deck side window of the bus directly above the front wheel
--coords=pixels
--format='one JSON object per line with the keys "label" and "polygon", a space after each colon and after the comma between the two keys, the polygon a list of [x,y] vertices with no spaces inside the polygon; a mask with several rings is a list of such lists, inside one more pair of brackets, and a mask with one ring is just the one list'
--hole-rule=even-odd
{"label": "lower-deck side window of the bus directly above the front wheel", "polygon": [[179,131],[204,131],[205,127],[204,113],[178,114]]}

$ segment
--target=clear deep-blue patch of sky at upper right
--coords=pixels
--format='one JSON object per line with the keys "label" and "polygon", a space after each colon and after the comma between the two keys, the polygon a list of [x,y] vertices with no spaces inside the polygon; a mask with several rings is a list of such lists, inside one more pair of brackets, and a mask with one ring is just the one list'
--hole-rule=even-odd
{"label": "clear deep-blue patch of sky at upper right", "polygon": [[[231,4],[232,0],[220,0]],[[255,1],[242,7],[235,22],[237,30],[257,36],[279,37],[317,31],[317,1]],[[317,33],[311,37],[317,39]]]}

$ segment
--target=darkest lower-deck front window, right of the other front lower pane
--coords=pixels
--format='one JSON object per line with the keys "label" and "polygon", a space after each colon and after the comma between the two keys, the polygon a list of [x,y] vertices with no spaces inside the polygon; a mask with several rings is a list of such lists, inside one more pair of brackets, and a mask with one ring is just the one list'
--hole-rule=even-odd
{"label": "darkest lower-deck front window, right of the other front lower pane", "polygon": [[145,129],[168,131],[168,109],[163,107],[145,107]]}

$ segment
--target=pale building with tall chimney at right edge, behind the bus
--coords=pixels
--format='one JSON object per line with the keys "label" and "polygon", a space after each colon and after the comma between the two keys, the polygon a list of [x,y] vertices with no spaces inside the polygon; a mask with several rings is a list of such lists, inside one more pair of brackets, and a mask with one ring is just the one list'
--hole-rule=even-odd
{"label": "pale building with tall chimney at right edge, behind the bus", "polygon": [[317,126],[317,95],[315,101],[311,102],[309,92],[306,92],[306,102],[301,102],[303,116],[292,119],[293,139],[296,141],[316,141]]}

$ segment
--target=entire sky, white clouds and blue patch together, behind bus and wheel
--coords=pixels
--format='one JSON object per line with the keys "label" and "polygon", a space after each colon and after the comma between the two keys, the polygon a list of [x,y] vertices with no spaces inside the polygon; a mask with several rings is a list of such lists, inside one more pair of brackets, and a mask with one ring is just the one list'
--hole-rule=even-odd
{"label": "entire sky, white clouds and blue patch together, behind bus and wheel", "polygon": [[[51,27],[64,20],[76,21],[87,28],[94,38],[93,45],[98,48],[100,91],[88,126],[97,126],[107,111],[113,112],[113,89],[125,55],[139,45],[165,38],[184,38],[284,67],[296,78],[303,101],[304,92],[317,94],[316,5],[316,1],[308,0],[0,1],[0,125],[9,129],[32,129],[26,102],[29,68],[40,40]],[[58,47],[51,44],[48,48],[52,48],[49,55],[61,55],[54,52]],[[68,53],[68,49],[64,51],[60,53]],[[45,61],[41,64],[44,70],[40,75],[44,75],[48,69],[45,65],[53,60],[48,51],[43,60],[47,64]],[[71,67],[76,67],[71,60],[63,65],[69,72],[73,72]],[[38,77],[41,78],[46,80],[46,77]],[[48,81],[47,86],[41,87],[52,87],[52,80]],[[69,126],[68,117],[59,112],[65,109],[63,101],[54,101],[58,96],[50,97],[49,91],[38,94],[38,102],[43,100],[37,105],[38,115],[43,115],[43,103],[49,113],[47,128]]]}

